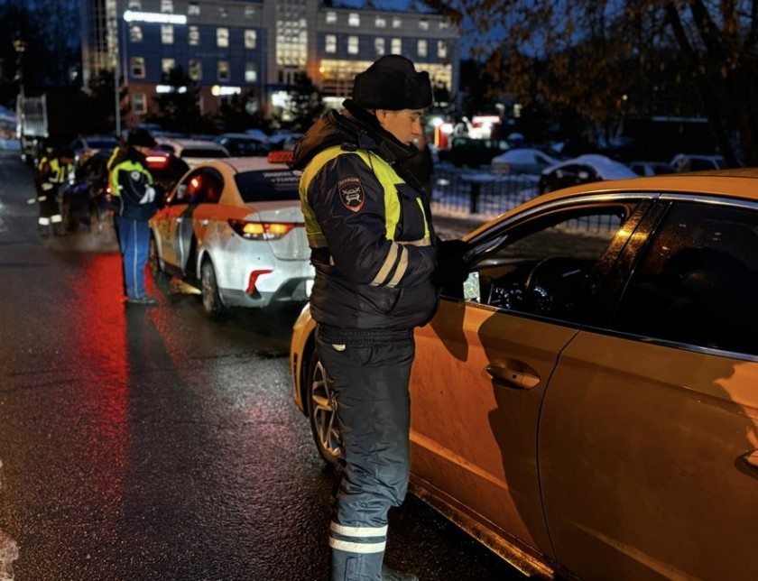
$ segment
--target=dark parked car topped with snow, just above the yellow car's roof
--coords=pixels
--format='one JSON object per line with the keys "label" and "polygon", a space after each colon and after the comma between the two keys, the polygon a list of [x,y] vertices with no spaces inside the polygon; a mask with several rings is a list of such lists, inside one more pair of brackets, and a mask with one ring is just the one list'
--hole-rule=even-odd
{"label": "dark parked car topped with snow, just above the yellow car's roof", "polygon": [[637,174],[624,163],[614,161],[605,155],[586,153],[543,170],[540,176],[540,191],[544,194],[595,181],[636,177]]}

